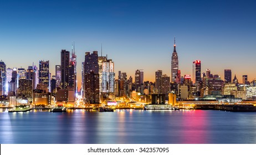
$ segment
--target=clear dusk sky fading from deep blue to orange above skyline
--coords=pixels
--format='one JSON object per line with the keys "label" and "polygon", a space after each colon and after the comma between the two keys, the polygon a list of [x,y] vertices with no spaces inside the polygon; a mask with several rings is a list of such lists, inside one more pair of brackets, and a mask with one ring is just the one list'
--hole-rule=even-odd
{"label": "clear dusk sky fading from deep blue to orange above skyline", "polygon": [[201,60],[202,73],[232,79],[256,78],[256,1],[0,1],[1,56],[7,68],[28,68],[50,61],[75,42],[78,81],[85,51],[98,50],[118,71],[155,81],[155,71],[171,75],[173,39],[181,75],[192,74]]}

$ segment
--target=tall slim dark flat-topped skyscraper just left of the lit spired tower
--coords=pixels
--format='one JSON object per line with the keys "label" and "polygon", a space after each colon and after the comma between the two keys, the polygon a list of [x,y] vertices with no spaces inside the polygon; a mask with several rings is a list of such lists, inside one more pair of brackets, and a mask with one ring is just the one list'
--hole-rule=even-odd
{"label": "tall slim dark flat-topped skyscraper just left of the lit spired tower", "polygon": [[60,53],[61,53],[60,70],[62,74],[60,87],[62,87],[62,89],[66,89],[69,84],[69,51],[63,49]]}

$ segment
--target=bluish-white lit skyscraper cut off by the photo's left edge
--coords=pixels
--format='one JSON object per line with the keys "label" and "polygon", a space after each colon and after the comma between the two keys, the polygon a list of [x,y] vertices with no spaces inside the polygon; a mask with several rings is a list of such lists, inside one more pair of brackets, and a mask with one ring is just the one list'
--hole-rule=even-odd
{"label": "bluish-white lit skyscraper cut off by the photo's left edge", "polygon": [[6,86],[6,64],[0,61],[0,95],[7,95]]}

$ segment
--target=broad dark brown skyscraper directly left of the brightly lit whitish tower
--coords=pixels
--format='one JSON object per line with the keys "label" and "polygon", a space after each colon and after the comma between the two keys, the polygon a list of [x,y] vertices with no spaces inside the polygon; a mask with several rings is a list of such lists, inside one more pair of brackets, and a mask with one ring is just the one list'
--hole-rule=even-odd
{"label": "broad dark brown skyscraper directly left of the brightly lit whitish tower", "polygon": [[98,51],[93,51],[91,54],[90,52],[85,52],[84,97],[87,103],[100,103]]}

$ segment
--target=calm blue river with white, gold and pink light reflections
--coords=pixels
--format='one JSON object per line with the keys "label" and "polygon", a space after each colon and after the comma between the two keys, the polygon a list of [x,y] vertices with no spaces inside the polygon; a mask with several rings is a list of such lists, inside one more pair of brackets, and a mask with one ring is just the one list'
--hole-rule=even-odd
{"label": "calm blue river with white, gold and pink light reflections", "polygon": [[256,143],[256,112],[0,112],[0,143]]}

